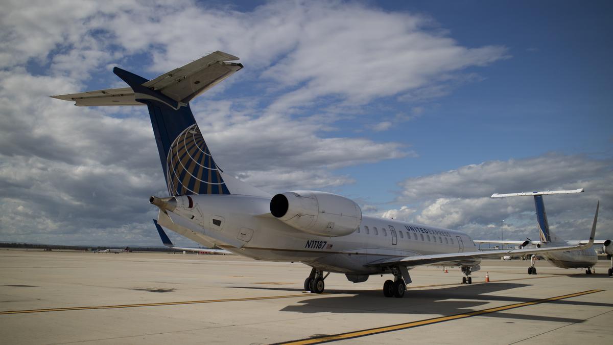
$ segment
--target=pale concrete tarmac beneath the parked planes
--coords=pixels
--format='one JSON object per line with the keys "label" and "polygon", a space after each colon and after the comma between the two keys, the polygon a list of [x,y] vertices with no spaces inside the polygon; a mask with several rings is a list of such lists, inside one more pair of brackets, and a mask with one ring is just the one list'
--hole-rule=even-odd
{"label": "pale concrete tarmac beneath the parked planes", "polygon": [[[221,255],[0,250],[2,344],[577,344],[613,339],[613,277],[541,260],[485,260],[472,285],[459,268],[410,271],[404,298],[391,276],[326,279],[310,268]],[[489,272],[490,282],[485,283]],[[295,341],[295,342],[294,342]]]}

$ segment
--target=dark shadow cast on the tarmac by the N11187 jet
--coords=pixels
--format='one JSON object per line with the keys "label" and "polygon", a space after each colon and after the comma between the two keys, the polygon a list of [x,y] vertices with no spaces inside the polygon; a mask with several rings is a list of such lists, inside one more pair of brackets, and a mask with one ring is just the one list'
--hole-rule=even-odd
{"label": "dark shadow cast on the tarmac by the N11187 jet", "polygon": [[[326,290],[325,295],[314,297],[308,295],[300,305],[289,305],[280,311],[302,312],[316,314],[318,312],[361,313],[361,314],[440,314],[443,316],[470,312],[474,309],[487,309],[485,304],[490,301],[502,301],[503,305],[523,303],[538,300],[538,297],[515,297],[486,295],[503,290],[531,286],[517,283],[488,283],[473,285],[458,285],[443,289],[408,289],[404,298],[385,298],[381,290]],[[236,289],[264,289],[276,291],[295,292],[300,289],[283,289],[273,287],[234,287]],[[300,290],[302,291],[302,290]],[[519,294],[520,292],[518,292]],[[566,292],[573,293],[573,292]],[[338,296],[335,296],[338,295]],[[317,295],[316,295],[317,296]],[[525,296],[525,293],[522,294]],[[553,296],[548,296],[553,297]],[[593,303],[573,300],[549,301],[547,304],[565,304],[575,306],[606,306],[613,307],[613,303]],[[478,308],[479,306],[484,306]],[[497,305],[498,306],[498,303]],[[504,317],[506,319],[543,320],[553,322],[577,323],[581,319],[567,317],[525,315],[521,312],[493,312],[482,314],[488,317]]]}

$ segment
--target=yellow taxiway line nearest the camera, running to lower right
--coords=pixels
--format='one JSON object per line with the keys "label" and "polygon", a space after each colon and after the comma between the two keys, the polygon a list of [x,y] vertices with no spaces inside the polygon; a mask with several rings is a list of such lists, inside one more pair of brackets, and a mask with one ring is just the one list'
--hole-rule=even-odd
{"label": "yellow taxiway line nearest the camera, running to lower right", "polygon": [[361,336],[375,335],[375,334],[379,334],[379,333],[386,333],[386,332],[389,332],[389,331],[406,330],[407,328],[419,327],[419,326],[424,326],[424,325],[432,325],[432,324],[436,324],[438,322],[445,322],[445,321],[451,321],[451,320],[457,320],[457,319],[465,319],[466,317],[473,317],[473,316],[478,316],[478,315],[483,315],[483,314],[489,314],[491,312],[504,311],[504,310],[514,309],[514,308],[522,308],[522,307],[525,307],[525,306],[532,306],[534,304],[547,303],[547,302],[551,302],[551,301],[564,300],[565,298],[577,297],[577,296],[587,295],[588,293],[596,293],[596,292],[601,292],[601,291],[604,291],[604,290],[587,290],[587,291],[584,291],[584,292],[571,293],[569,295],[544,298],[542,300],[534,300],[534,301],[528,301],[528,302],[524,302],[524,303],[508,304],[506,306],[500,306],[500,307],[489,308],[489,309],[482,309],[482,310],[478,310],[478,311],[465,312],[465,313],[462,313],[462,314],[455,314],[455,315],[452,315],[452,316],[435,317],[433,319],[425,319],[425,320],[419,320],[419,321],[414,321],[414,322],[406,322],[405,324],[398,324],[398,325],[390,325],[390,326],[384,326],[384,327],[370,328],[370,329],[367,329],[367,330],[351,331],[351,332],[348,332],[348,333],[340,333],[340,334],[329,335],[329,336],[320,336],[320,337],[317,337],[317,338],[300,339],[300,340],[287,341],[287,342],[284,342],[284,343],[276,343],[276,344],[277,345],[280,345],[280,344],[292,344],[292,345],[299,345],[300,344],[300,345],[303,345],[303,344],[329,343],[330,341],[338,341],[338,340],[346,340],[346,339],[352,339],[352,338],[359,338]]}

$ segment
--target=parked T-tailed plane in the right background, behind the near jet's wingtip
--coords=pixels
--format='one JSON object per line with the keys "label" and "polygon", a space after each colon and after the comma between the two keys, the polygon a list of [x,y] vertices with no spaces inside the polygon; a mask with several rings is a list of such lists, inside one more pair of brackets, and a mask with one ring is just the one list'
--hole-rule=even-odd
{"label": "parked T-tailed plane in the right background, behind the near jet's wingtip", "polygon": [[[547,212],[545,212],[545,202],[543,195],[552,194],[574,194],[584,192],[583,188],[574,190],[548,190],[546,192],[524,192],[524,193],[509,193],[492,195],[492,198],[506,198],[508,196],[534,196],[535,208],[536,208],[536,222],[538,223],[539,236],[541,241],[490,241],[476,239],[477,243],[495,243],[495,244],[514,244],[522,248],[546,248],[555,246],[573,246],[576,244],[585,244],[587,241],[566,241],[555,235],[555,233],[549,230],[549,222],[547,222]],[[611,259],[611,268],[609,268],[609,276],[613,276],[613,243],[610,239],[595,240],[594,243],[602,244],[603,250],[607,254],[607,257]],[[565,250],[563,252],[548,252],[541,254],[552,265],[560,268],[585,268],[585,274],[592,274],[592,268],[598,262],[598,254],[592,248]],[[530,267],[528,267],[528,274],[536,274],[535,260],[536,255],[532,255]]]}

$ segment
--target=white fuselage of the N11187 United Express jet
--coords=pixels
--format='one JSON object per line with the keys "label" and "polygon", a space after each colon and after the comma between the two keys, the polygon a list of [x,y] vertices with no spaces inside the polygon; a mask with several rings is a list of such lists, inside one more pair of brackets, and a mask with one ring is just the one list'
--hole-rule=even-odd
{"label": "white fuselage of the N11187 United Express jet", "polygon": [[[173,212],[160,212],[158,222],[196,242],[256,260],[303,262],[333,273],[375,274],[365,266],[379,258],[447,254],[477,250],[461,231],[363,217],[346,236],[318,236],[290,227],[270,215],[270,198],[241,195],[177,196]],[[476,266],[480,260],[450,265]]]}

